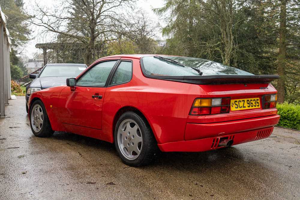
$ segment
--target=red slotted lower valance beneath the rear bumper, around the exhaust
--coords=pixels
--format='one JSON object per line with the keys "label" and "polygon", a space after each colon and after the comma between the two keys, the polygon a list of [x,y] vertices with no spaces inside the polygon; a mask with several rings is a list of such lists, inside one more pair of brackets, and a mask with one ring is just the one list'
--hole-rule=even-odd
{"label": "red slotted lower valance beneath the rear bumper, around the exhaust", "polygon": [[222,135],[218,137],[210,137],[199,140],[189,140],[189,141],[179,141],[179,142],[169,142],[165,144],[158,144],[161,151],[181,151],[181,152],[201,152],[209,151],[214,149],[220,149],[224,147],[219,147],[219,142],[221,138],[232,139],[233,144],[241,144],[251,141],[256,141],[264,138],[268,138],[274,127],[269,127],[266,129],[259,129],[247,132],[241,132],[230,135]]}

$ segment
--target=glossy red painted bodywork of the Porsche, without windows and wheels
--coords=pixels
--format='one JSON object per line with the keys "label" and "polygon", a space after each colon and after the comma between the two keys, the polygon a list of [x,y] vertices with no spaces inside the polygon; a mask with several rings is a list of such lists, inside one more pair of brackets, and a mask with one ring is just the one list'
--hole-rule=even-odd
{"label": "glossy red painted bodywork of the Porsche, without windows and wheels", "polygon": [[[42,100],[53,130],[108,142],[114,141],[113,122],[116,113],[124,107],[135,108],[148,120],[162,151],[210,150],[212,140],[220,135],[234,134],[233,144],[253,141],[258,129],[273,127],[278,123],[276,108],[189,116],[195,98],[261,97],[277,91],[271,84],[247,84],[247,87],[244,84],[196,85],[147,78],[140,67],[142,56],[108,56],[91,65],[115,58],[132,60],[133,77],[128,83],[106,88],[76,86],[75,91],[67,86],[52,87],[33,93],[29,102],[32,103],[35,98]],[[91,98],[95,93],[103,98]]]}

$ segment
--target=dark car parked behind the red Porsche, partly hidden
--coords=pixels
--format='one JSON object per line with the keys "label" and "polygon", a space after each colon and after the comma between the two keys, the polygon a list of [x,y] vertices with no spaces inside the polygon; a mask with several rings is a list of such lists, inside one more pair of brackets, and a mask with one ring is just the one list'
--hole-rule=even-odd
{"label": "dark car parked behind the red Porsche, partly hidden", "polygon": [[66,84],[67,78],[75,78],[87,68],[85,64],[46,64],[39,74],[30,74],[35,78],[26,86],[26,111],[28,113],[28,99],[31,93],[48,87]]}

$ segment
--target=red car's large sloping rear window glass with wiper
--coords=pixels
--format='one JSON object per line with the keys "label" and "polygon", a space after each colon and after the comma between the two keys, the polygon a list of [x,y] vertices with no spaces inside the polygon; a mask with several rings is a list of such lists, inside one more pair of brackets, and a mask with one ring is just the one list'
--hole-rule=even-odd
{"label": "red car's large sloping rear window glass with wiper", "polygon": [[[184,56],[161,56],[180,62],[186,66],[181,66],[167,60],[157,59],[154,56],[142,58],[146,74],[153,76],[199,76],[193,68],[199,69],[204,76],[207,75],[253,75],[246,71],[229,67],[210,60],[190,58]],[[190,68],[190,67],[193,68]]]}

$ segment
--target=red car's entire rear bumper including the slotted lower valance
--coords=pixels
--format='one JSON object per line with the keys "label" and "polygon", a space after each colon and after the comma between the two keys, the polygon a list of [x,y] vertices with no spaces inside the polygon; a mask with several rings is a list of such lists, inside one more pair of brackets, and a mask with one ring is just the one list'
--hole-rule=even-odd
{"label": "red car's entire rear bumper including the slotted lower valance", "polygon": [[279,115],[256,117],[227,122],[187,123],[184,141],[158,144],[161,151],[199,152],[217,148],[220,138],[233,139],[233,144],[267,138],[280,119]]}

